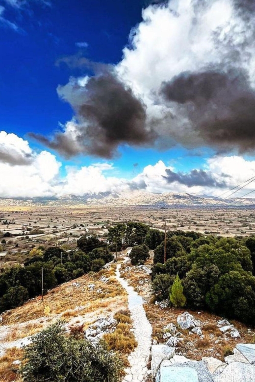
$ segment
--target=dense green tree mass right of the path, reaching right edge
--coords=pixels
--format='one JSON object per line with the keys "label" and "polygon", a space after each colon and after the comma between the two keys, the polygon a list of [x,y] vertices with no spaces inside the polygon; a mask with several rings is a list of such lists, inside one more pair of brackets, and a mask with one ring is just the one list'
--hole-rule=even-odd
{"label": "dense green tree mass right of the path, reaching right edge", "polygon": [[[155,237],[155,233],[151,237]],[[159,235],[159,234],[158,234]],[[249,324],[255,322],[255,238],[202,237],[169,232],[154,250],[153,288],[157,299],[169,298],[176,276],[186,307],[208,309]]]}

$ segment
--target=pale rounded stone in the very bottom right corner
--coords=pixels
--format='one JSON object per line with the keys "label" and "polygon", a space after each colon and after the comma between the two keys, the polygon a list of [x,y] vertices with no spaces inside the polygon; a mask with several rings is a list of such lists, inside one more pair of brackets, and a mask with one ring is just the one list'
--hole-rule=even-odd
{"label": "pale rounded stone in the very bottom right corner", "polygon": [[243,362],[232,362],[214,377],[214,382],[254,382],[255,367]]}

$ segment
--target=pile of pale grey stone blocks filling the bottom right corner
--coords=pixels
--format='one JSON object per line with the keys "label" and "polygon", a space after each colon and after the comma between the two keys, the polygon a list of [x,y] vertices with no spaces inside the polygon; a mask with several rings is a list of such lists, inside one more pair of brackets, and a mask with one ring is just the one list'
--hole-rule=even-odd
{"label": "pile of pale grey stone blocks filling the bottom right corner", "polygon": [[175,354],[175,347],[153,345],[155,382],[255,382],[255,344],[238,344],[226,362],[213,357],[201,361]]}

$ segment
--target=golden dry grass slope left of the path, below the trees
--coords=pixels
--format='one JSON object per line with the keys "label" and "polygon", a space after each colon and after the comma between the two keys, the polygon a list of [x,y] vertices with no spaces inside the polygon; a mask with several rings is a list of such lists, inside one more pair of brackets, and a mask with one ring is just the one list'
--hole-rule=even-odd
{"label": "golden dry grass slope left of the path, below the trees", "polygon": [[[115,304],[117,301],[125,306],[124,300],[126,300],[127,293],[115,280],[114,268],[115,265],[113,264],[98,274],[86,274],[75,281],[60,285],[50,290],[49,293],[44,296],[43,303],[41,303],[40,297],[38,297],[22,307],[6,312],[3,315],[1,325],[23,323],[40,317],[44,318],[46,307],[50,311],[50,313],[47,314],[50,320],[61,313],[64,318],[80,315],[81,311],[75,311],[77,306],[84,307],[82,314],[110,307],[111,303]],[[109,278],[107,283],[100,281],[102,276]],[[74,287],[74,282],[80,286]],[[94,290],[88,288],[90,284],[95,285]]]}

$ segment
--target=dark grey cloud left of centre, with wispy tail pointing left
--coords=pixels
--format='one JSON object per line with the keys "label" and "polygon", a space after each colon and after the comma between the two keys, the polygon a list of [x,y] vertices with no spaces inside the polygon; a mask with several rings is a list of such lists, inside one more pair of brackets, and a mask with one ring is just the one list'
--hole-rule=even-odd
{"label": "dark grey cloud left of centre, with wispy tail pointing left", "polygon": [[77,137],[57,132],[50,140],[38,134],[33,138],[67,157],[82,154],[112,158],[119,145],[152,145],[156,134],[146,128],[146,110],[128,86],[114,71],[104,70],[88,79],[86,86],[77,82],[59,88],[59,95],[68,101],[77,118]]}

